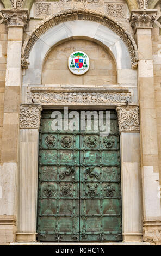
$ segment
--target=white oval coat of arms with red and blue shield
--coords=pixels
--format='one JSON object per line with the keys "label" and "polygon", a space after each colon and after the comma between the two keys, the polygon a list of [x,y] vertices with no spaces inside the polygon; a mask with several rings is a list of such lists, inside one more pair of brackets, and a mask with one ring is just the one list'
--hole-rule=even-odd
{"label": "white oval coat of arms with red and blue shield", "polygon": [[85,52],[73,52],[68,60],[69,70],[75,75],[83,75],[89,70],[89,57]]}

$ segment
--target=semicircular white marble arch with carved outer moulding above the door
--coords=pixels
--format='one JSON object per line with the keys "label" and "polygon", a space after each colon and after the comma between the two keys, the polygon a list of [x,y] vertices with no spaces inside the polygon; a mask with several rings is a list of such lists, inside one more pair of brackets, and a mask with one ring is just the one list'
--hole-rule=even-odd
{"label": "semicircular white marble arch with carved outer moulding above the door", "polygon": [[108,48],[117,69],[131,69],[137,65],[135,41],[120,23],[94,11],[69,10],[44,19],[24,41],[22,66],[28,69],[23,83],[40,84],[42,63],[51,47],[76,38],[96,41]]}

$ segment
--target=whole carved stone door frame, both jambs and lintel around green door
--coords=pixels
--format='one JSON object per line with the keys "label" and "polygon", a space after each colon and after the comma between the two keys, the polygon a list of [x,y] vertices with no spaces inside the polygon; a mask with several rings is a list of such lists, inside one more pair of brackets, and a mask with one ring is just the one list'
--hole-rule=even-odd
{"label": "whole carved stone door frame, both jambs and lintel around green door", "polygon": [[[114,101],[70,104],[70,102],[49,102],[53,93],[88,92],[115,93]],[[46,93],[47,97],[42,97]],[[65,92],[64,92],[65,93]],[[140,129],[138,105],[128,104],[131,92],[127,88],[112,87],[31,87],[28,89],[28,103],[20,106],[20,172],[19,209],[17,242],[36,242],[36,218],[38,198],[38,152],[41,110],[62,109],[116,109],[120,131],[121,198],[123,242],[143,241],[141,168],[140,168]],[[116,98],[119,99],[116,102]],[[98,97],[97,97],[98,99]],[[46,101],[45,101],[46,100]],[[133,125],[131,125],[133,123]],[[136,150],[137,148],[137,150]],[[136,192],[137,191],[137,192]],[[133,200],[132,200],[132,199]],[[24,221],[26,220],[26,221]]]}

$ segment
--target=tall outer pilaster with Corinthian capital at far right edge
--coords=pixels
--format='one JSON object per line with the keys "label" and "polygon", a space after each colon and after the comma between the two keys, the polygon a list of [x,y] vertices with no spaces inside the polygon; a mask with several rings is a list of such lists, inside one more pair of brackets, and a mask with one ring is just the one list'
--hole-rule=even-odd
{"label": "tall outer pilaster with Corinthian capital at far right edge", "polygon": [[143,186],[143,240],[161,243],[161,206],[158,197],[159,166],[152,59],[152,24],[157,10],[133,10],[131,26],[138,44],[138,82]]}

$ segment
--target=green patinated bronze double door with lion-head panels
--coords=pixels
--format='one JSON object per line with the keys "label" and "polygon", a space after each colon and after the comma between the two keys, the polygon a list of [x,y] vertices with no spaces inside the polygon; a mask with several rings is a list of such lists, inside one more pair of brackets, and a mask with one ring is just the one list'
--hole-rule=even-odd
{"label": "green patinated bronze double door with lion-head panels", "polygon": [[55,132],[52,112],[42,112],[40,125],[38,240],[122,241],[116,112],[110,111],[109,136]]}

